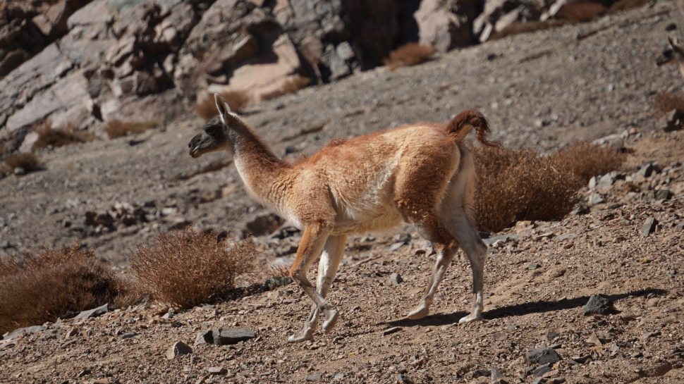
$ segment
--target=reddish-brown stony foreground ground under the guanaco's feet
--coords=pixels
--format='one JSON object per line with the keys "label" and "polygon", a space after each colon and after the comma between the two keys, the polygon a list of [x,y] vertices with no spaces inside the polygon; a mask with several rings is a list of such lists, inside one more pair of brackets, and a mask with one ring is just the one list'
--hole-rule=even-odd
{"label": "reddish-brown stony foreground ground under the guanaco's feet", "polygon": [[[472,299],[463,256],[432,314],[404,318],[434,263],[429,243],[404,228],[348,241],[327,297],[341,320],[314,340],[286,342],[310,302],[271,279],[188,311],[105,307],[8,333],[0,382],[682,383],[683,143],[681,133],[633,137],[631,161],[662,168],[592,182],[591,213],[486,239],[482,322],[458,324]],[[266,253],[298,240],[271,239]]]}

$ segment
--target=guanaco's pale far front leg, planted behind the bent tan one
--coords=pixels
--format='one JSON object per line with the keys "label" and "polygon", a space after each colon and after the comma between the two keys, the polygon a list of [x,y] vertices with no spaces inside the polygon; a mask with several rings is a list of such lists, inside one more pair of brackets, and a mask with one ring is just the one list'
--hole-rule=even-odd
{"label": "guanaco's pale far front leg, planted behind the bent tan one", "polygon": [[[342,252],[344,250],[344,244],[346,242],[346,236],[330,236],[325,243],[323,252],[321,254],[321,260],[318,264],[318,280],[316,281],[316,287],[318,293],[325,298],[328,294],[328,290],[335,280],[335,275],[337,274],[337,268],[342,260]],[[301,342],[305,340],[311,340],[313,334],[317,328],[318,315],[320,314],[319,307],[317,304],[313,304],[311,308],[311,314],[304,323],[304,328],[300,333],[292,335],[288,338],[288,342]],[[329,332],[335,326],[334,323],[328,323],[327,328],[324,327],[325,332]]]}

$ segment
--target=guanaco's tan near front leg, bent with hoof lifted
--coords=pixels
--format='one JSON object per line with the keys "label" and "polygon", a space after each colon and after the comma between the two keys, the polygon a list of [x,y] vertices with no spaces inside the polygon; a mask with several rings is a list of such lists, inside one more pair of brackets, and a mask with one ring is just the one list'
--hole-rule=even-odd
{"label": "guanaco's tan near front leg, bent with hoof lifted", "polygon": [[[304,234],[302,235],[299,249],[297,250],[297,257],[290,269],[290,275],[292,276],[292,279],[295,280],[295,283],[297,283],[312,299],[314,304],[318,307],[317,309],[323,312],[323,315],[325,316],[323,330],[326,332],[334,328],[335,323],[337,323],[337,311],[332,309],[331,305],[325,301],[323,296],[317,292],[316,288],[306,278],[306,271],[312,261],[314,261],[322,252],[329,234],[330,230],[328,225],[322,223],[307,225]],[[314,309],[308,320],[314,318],[314,315],[316,315],[315,312]],[[310,340],[311,338],[312,333],[303,330],[297,335],[290,336],[288,342],[301,342]]]}

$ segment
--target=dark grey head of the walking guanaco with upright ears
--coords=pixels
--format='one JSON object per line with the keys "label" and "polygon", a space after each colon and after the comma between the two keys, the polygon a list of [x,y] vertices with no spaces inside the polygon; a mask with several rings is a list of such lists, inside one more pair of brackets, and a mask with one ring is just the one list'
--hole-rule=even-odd
{"label": "dark grey head of the walking guanaco with upright ears", "polygon": [[[190,147],[190,156],[197,159],[203,154],[209,152],[232,150],[231,140],[228,136],[228,128],[240,122],[238,115],[231,111],[228,106],[228,101],[219,94],[214,94],[216,99],[216,108],[219,109],[219,116],[207,121],[202,130],[204,132],[195,135],[193,140],[190,140],[188,147]],[[232,153],[231,153],[232,154]]]}

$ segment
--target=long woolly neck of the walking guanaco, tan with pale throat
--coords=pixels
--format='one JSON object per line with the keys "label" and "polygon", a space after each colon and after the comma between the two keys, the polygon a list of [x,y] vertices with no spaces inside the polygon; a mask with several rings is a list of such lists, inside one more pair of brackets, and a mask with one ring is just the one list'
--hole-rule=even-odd
{"label": "long woolly neck of the walking guanaco, tan with pale throat", "polygon": [[240,177],[252,194],[267,204],[277,205],[271,190],[288,168],[287,164],[276,157],[252,128],[241,121],[231,124],[231,128],[228,138]]}

